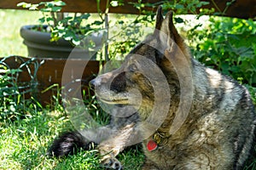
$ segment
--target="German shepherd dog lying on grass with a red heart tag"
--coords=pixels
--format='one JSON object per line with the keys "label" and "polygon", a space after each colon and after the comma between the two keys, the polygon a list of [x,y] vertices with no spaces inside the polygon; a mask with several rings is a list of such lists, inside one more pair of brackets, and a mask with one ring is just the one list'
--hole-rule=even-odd
{"label": "German shepherd dog lying on grass with a red heart tag", "polygon": [[90,83],[97,98],[113,108],[110,124],[63,133],[49,155],[89,149],[94,142],[102,164],[122,169],[115,156],[141,142],[144,170],[224,170],[241,169],[253,148],[256,118],[247,89],[193,59],[172,12],[164,19],[161,7],[154,33],[119,69]]}

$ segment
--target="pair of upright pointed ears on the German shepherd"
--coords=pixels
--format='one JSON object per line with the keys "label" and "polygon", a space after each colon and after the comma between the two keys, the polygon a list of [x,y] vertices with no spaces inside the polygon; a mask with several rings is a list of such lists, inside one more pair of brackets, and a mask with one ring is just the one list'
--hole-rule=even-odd
{"label": "pair of upright pointed ears on the German shepherd", "polygon": [[172,66],[182,65],[180,62],[186,59],[188,61],[186,63],[191,64],[189,49],[173,24],[172,11],[168,12],[164,19],[162,8],[158,8],[154,36],[157,38],[158,50],[160,51],[160,54],[156,57],[158,63],[166,68],[172,68]]}

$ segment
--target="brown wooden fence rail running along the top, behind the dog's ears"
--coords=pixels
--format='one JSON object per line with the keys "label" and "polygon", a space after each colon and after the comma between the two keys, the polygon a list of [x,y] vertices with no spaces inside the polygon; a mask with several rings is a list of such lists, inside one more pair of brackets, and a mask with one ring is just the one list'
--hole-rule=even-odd
{"label": "brown wooden fence rail running along the top, behind the dog's ears", "polygon": [[[12,1],[0,1],[0,8],[18,8],[17,3],[20,2],[28,3],[38,3],[47,0],[12,0]],[[96,13],[96,0],[63,0],[67,3],[67,6],[63,8],[63,12],[78,12],[78,13]],[[212,0],[205,0],[210,4],[207,5],[207,8],[215,8],[217,11],[219,8],[221,11],[226,7],[226,3],[230,0],[214,0],[217,7],[212,3]],[[137,8],[134,8],[131,3],[136,3],[137,0],[127,0],[125,1],[124,6],[109,8],[110,13],[117,14],[138,14]],[[143,3],[156,3],[157,0],[143,0]],[[101,0],[100,4],[101,10],[105,11],[106,0]],[[154,9],[155,10],[155,9]],[[232,3],[230,8],[226,11],[226,16],[237,17],[237,18],[255,18],[256,16],[256,1],[255,0],[236,0],[235,3]]]}

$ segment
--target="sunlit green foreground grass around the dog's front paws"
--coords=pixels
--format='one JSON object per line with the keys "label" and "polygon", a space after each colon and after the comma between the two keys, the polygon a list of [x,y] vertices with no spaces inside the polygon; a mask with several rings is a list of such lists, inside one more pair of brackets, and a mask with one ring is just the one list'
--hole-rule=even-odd
{"label": "sunlit green foreground grass around the dog's front paws", "polygon": [[[62,158],[46,156],[56,135],[70,128],[67,116],[57,111],[34,112],[16,122],[2,122],[0,169],[102,169],[96,150],[81,150]],[[126,150],[119,160],[126,169],[135,169],[142,165],[143,154]]]}

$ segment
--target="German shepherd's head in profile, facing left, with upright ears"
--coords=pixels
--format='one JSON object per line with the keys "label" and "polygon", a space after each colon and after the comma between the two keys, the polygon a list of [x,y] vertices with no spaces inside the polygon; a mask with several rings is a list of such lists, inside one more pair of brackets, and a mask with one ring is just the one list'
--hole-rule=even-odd
{"label": "German shepherd's head in profile, facing left, with upright ears", "polygon": [[[179,48],[175,50],[176,54],[173,54],[173,49],[170,52],[173,44]],[[102,74],[90,83],[102,102],[133,105],[143,113],[150,113],[155,102],[168,103],[171,95],[178,93],[179,82],[172,60],[182,62],[176,59],[181,52],[189,60],[183,38],[173,25],[172,12],[167,13],[164,19],[161,8],[158,8],[153,35],[137,44],[119,69]]]}

